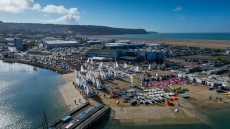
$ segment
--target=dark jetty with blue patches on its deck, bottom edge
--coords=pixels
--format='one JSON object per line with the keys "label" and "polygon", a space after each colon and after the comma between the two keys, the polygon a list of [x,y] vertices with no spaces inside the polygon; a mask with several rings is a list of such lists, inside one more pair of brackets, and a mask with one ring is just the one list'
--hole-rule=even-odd
{"label": "dark jetty with blue patches on its deck, bottom edge", "polygon": [[110,108],[103,104],[86,102],[50,124],[49,129],[86,129],[100,119]]}

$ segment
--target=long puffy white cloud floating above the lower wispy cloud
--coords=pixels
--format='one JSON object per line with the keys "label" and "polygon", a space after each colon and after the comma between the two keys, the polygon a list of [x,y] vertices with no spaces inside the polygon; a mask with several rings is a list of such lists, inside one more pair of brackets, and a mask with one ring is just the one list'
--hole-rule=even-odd
{"label": "long puffy white cloud floating above the lower wispy cloud", "polygon": [[77,8],[66,9],[64,6],[47,5],[42,9],[45,13],[58,13],[58,14],[79,14]]}

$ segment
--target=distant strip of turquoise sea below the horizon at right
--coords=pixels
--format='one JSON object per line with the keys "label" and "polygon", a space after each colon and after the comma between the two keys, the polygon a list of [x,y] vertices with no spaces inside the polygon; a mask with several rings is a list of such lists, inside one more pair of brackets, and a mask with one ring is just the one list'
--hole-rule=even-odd
{"label": "distant strip of turquoise sea below the horizon at right", "polygon": [[230,33],[150,33],[150,34],[107,35],[107,36],[162,38],[162,39],[230,40]]}

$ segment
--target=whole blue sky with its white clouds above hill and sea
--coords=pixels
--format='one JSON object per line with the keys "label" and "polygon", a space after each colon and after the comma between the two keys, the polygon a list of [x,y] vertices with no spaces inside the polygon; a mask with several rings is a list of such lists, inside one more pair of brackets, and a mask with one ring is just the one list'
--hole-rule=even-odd
{"label": "whole blue sky with its white clouds above hill and sea", "polygon": [[0,0],[0,7],[3,22],[230,32],[230,0]]}

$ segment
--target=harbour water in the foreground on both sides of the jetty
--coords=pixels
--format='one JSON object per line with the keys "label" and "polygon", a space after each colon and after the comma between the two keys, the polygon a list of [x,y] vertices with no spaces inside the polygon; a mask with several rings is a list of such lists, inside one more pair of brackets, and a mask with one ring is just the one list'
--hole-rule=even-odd
{"label": "harbour water in the foreground on both sides of the jetty", "polygon": [[[39,129],[43,111],[48,122],[68,111],[57,87],[60,74],[34,66],[0,60],[0,129]],[[120,123],[101,119],[92,129],[230,129],[230,105],[201,108],[200,120]]]}

